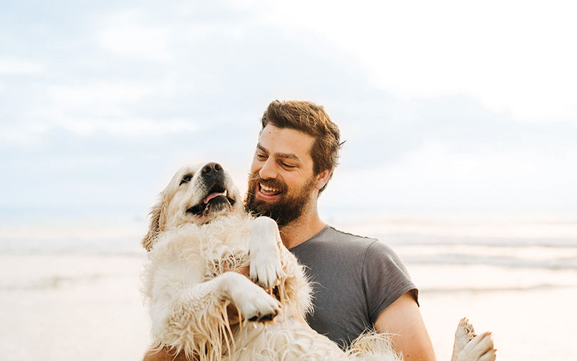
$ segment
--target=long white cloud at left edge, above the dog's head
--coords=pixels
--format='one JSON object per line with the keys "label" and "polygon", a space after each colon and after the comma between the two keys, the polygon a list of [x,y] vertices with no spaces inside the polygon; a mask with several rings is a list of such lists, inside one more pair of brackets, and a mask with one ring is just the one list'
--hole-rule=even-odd
{"label": "long white cloud at left edge, above the dog's head", "polygon": [[[168,86],[170,87],[170,86]],[[4,124],[1,139],[31,145],[55,127],[76,134],[106,132],[126,137],[194,132],[198,122],[180,114],[150,116],[141,112],[167,86],[130,80],[89,79],[81,84],[37,84],[35,107],[21,109],[21,122]]]}

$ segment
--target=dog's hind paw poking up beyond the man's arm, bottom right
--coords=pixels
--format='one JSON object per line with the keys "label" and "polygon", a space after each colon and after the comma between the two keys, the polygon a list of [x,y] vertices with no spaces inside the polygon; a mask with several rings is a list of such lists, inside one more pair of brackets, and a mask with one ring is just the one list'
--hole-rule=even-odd
{"label": "dog's hind paw poking up beyond the man's arm, bottom right", "polygon": [[495,352],[491,332],[477,336],[466,318],[459,322],[451,361],[494,361]]}

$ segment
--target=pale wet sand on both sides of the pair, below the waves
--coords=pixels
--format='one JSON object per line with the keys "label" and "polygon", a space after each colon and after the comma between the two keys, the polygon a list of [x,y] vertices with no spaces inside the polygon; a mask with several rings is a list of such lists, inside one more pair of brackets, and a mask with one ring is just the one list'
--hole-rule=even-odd
{"label": "pale wet sand on both sides of the pair, below the waves", "polygon": [[[0,360],[139,360],[149,337],[140,267],[139,257],[127,256],[0,257]],[[421,312],[438,360],[450,360],[461,317],[479,332],[493,332],[499,360],[571,360],[577,354],[577,272],[409,267],[421,287]],[[42,272],[26,275],[31,269]],[[514,286],[527,278],[536,280]]]}

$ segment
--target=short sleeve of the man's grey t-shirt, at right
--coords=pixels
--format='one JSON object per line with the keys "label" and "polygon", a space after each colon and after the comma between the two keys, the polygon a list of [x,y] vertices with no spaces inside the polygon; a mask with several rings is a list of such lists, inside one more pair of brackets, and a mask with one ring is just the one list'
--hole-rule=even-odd
{"label": "short sleeve of the man's grey t-shirt, at right", "polygon": [[376,240],[367,247],[362,272],[368,316],[373,325],[378,315],[406,292],[412,290],[418,302],[418,290],[405,265],[383,242]]}

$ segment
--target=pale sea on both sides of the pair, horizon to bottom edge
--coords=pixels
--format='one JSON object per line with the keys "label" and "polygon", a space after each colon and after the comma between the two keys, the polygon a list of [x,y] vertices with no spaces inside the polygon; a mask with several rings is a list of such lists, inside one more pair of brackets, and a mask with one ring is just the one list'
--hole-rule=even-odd
{"label": "pale sea on both sides of the pair, horizon to bottom edge", "polygon": [[[498,360],[577,355],[577,217],[329,219],[406,263],[437,360],[458,320],[493,332]],[[0,224],[0,360],[139,360],[144,221]]]}

